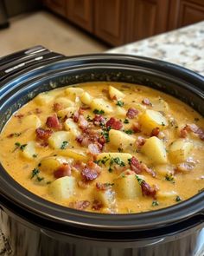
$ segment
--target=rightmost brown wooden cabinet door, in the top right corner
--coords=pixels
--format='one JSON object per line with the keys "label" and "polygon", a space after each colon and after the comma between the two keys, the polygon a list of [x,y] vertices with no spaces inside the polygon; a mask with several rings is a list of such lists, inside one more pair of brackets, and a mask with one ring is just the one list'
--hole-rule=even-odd
{"label": "rightmost brown wooden cabinet door, in the top right corner", "polygon": [[204,20],[203,0],[171,0],[169,30]]}

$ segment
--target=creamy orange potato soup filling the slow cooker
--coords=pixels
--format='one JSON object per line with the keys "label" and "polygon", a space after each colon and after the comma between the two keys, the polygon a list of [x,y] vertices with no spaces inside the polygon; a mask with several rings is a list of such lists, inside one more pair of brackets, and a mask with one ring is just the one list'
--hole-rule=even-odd
{"label": "creamy orange potato soup filling the slow cooker", "polygon": [[[98,213],[151,211],[187,200],[201,191],[204,187],[203,141],[201,141],[201,135],[183,129],[186,124],[203,127],[203,117],[194,109],[170,95],[141,85],[86,82],[76,85],[76,88],[83,91],[73,93],[72,89],[70,91],[68,88],[70,87],[54,89],[38,95],[12,115],[3,128],[0,135],[0,145],[3,148],[0,152],[0,160],[8,174],[22,187],[62,206]],[[86,98],[85,92],[89,98]],[[100,105],[98,108],[98,105],[92,103],[94,99],[103,99],[105,105]],[[101,153],[97,152],[93,155],[87,144],[83,147],[83,143],[81,145],[81,141],[76,140],[84,133],[83,128],[79,128],[79,121],[73,121],[74,115],[79,114],[80,107],[83,108],[83,111],[80,110],[80,115],[85,117],[88,126],[99,130],[99,135],[103,135],[106,139],[104,147],[98,148]],[[130,108],[137,111],[133,117],[130,115],[129,118],[127,111]],[[69,112],[66,112],[67,109]],[[154,110],[160,115],[162,113],[162,118],[166,122],[162,125],[158,123],[152,131],[154,124],[152,126],[152,120],[145,118],[144,115],[148,110]],[[48,117],[53,116],[54,113],[58,116],[61,128],[48,128]],[[127,146],[126,142],[121,144],[120,137],[115,136],[114,132],[112,138],[117,139],[108,138],[110,130],[113,129],[107,129],[105,124],[94,124],[92,120],[97,114],[105,117],[105,123],[112,117],[119,121],[120,125],[122,124],[119,130],[122,140],[123,135],[125,140],[127,136],[131,138],[128,141],[129,145]],[[69,121],[73,122],[71,126],[74,125],[71,129],[70,124],[65,125],[67,116],[70,116]],[[52,130],[52,135],[58,131],[67,131],[69,135],[67,140],[60,140],[61,144],[56,146],[59,138],[55,138],[55,142],[49,141],[51,135],[48,140],[39,140],[36,137],[36,128]],[[118,132],[117,129],[114,131]],[[185,138],[180,138],[181,136]],[[150,138],[156,138],[162,142],[166,160],[155,161],[155,157],[159,155],[151,155],[157,150],[154,144],[145,149],[145,144]],[[170,147],[176,140],[190,143],[191,147],[185,149],[184,156],[180,151],[172,153],[174,148],[170,149]],[[151,147],[153,147],[152,150],[150,150]],[[80,153],[80,156],[70,154],[70,150]],[[99,155],[105,152],[119,154],[116,157],[108,155],[99,158]],[[120,157],[120,154],[125,153],[137,159],[138,169],[131,166],[131,157],[126,157],[126,160]],[[181,155],[175,161],[174,158],[179,154]],[[59,168],[61,170],[61,166],[56,165],[56,161],[48,162],[43,167],[43,160],[50,156],[55,159],[60,158],[59,165],[69,167],[67,174],[66,171],[62,174],[64,177],[56,179],[56,175],[54,176],[54,172],[56,173]],[[163,155],[161,157],[163,158]],[[89,164],[91,161],[93,168],[97,165],[97,170],[99,169],[98,177],[92,181],[86,181],[85,176],[81,174],[82,169],[87,167],[88,161]],[[78,167],[79,162],[84,164]],[[141,164],[143,164],[142,167]],[[123,179],[128,179],[130,175],[134,176],[135,180],[131,179],[124,183]],[[64,179],[65,177],[68,179],[72,177],[72,182]],[[61,188],[59,184],[58,187],[52,187],[54,181],[61,179],[66,180],[67,183],[65,182],[64,185],[61,183],[65,187]],[[147,193],[144,191],[145,185],[148,186]]]}

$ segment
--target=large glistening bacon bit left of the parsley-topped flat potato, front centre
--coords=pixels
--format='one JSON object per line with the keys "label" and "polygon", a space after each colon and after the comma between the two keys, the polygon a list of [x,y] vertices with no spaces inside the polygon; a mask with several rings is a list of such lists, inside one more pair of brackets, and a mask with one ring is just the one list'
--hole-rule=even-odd
{"label": "large glistening bacon bit left of the parsley-topped flat potato, front centre", "polygon": [[84,181],[93,181],[100,174],[100,167],[93,161],[88,161],[86,167],[81,171],[81,176]]}

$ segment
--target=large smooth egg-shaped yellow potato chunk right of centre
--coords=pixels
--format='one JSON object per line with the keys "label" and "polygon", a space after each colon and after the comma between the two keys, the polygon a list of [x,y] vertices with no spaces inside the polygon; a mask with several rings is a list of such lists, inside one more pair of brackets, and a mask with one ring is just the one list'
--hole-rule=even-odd
{"label": "large smooth egg-shaped yellow potato chunk right of centre", "polygon": [[167,153],[164,148],[163,141],[159,140],[155,136],[146,140],[141,152],[146,154],[152,163],[163,164],[167,162]]}

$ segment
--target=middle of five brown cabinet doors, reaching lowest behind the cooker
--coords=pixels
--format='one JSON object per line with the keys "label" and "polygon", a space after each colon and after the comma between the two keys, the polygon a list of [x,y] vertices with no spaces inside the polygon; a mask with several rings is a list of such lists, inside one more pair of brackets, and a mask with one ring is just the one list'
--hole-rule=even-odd
{"label": "middle of five brown cabinet doors, reaching lowest behind the cooker", "polygon": [[94,34],[112,45],[125,43],[127,4],[130,0],[95,0]]}

